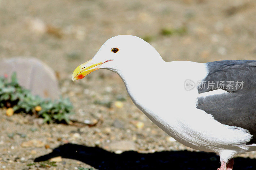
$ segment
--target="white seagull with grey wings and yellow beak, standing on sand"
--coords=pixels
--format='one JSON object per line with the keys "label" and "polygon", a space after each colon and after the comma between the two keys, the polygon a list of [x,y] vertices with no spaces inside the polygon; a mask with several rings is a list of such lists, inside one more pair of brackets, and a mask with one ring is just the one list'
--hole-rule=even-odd
{"label": "white seagull with grey wings and yellow beak, standing on sand", "polygon": [[133,103],[176,141],[220,155],[232,170],[236,154],[256,150],[256,60],[165,62],[132,35],[108,39],[72,81],[107,69],[123,80]]}

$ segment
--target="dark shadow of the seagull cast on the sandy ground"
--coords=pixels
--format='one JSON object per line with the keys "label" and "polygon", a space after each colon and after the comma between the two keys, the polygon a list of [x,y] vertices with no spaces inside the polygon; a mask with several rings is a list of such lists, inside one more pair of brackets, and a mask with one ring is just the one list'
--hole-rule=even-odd
{"label": "dark shadow of the seagull cast on the sandy ground", "polygon": [[[99,170],[125,169],[179,169],[179,170],[216,170],[220,167],[220,158],[215,153],[189,151],[162,151],[155,153],[138,153],[126,151],[121,154],[106,151],[99,147],[78,144],[64,144],[53,149],[47,155],[36,158],[41,162],[61,156],[62,158],[82,161]],[[255,159],[235,158],[234,169],[256,169]]]}

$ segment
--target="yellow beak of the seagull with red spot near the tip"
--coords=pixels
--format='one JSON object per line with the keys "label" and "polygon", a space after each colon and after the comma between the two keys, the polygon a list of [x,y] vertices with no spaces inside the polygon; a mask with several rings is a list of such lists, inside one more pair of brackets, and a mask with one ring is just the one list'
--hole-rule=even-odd
{"label": "yellow beak of the seagull with red spot near the tip", "polygon": [[[91,59],[92,60],[92,59]],[[92,71],[98,70],[100,65],[104,62],[100,63],[91,63],[91,60],[87,61],[79,65],[72,74],[72,81],[84,78],[87,74],[91,73]]]}

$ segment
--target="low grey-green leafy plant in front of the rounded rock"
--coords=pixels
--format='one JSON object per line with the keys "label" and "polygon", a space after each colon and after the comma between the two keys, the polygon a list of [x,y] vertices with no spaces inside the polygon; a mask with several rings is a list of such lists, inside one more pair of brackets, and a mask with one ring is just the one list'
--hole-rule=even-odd
{"label": "low grey-green leafy plant in front of the rounded rock", "polygon": [[72,103],[60,97],[59,100],[46,100],[34,96],[27,89],[19,85],[16,73],[8,82],[7,76],[0,77],[0,107],[12,107],[14,112],[24,112],[43,117],[44,122],[69,123],[68,115],[72,114]]}

